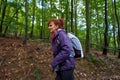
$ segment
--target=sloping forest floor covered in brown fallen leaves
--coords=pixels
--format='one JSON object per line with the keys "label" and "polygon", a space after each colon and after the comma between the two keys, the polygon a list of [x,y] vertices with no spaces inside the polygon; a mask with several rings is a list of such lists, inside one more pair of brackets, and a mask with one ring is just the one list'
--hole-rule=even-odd
{"label": "sloping forest floor covered in brown fallen leaves", "polygon": [[[0,37],[0,80],[54,80],[49,43]],[[75,80],[120,80],[120,59],[91,50],[87,58],[77,59]]]}

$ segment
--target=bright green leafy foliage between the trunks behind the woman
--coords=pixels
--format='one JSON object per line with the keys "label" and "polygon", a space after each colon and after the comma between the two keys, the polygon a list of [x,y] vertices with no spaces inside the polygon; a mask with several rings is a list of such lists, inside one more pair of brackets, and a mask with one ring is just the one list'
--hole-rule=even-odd
{"label": "bright green leafy foliage between the trunks behind the woman", "polygon": [[[2,1],[2,0],[1,0]],[[47,29],[47,22],[51,18],[64,18],[65,19],[65,28],[67,31],[71,31],[71,0],[28,0],[28,35],[30,35],[32,30],[32,20],[33,20],[33,12],[34,14],[34,28],[33,28],[33,36],[39,38],[48,38],[50,33]],[[42,4],[43,2],[43,4]],[[108,23],[109,23],[109,46],[115,47],[114,38],[113,38],[113,24],[115,26],[115,42],[116,47],[118,47],[117,43],[117,35],[118,35],[118,27],[116,23],[116,18],[113,20],[112,16],[114,15],[114,7],[112,4],[112,0],[108,1]],[[2,9],[5,3],[1,2],[0,11],[2,13]],[[117,13],[120,11],[120,1],[116,1]],[[33,7],[35,9],[33,10]],[[75,8],[75,6],[77,6]],[[92,0],[90,2],[90,41],[93,44],[98,44],[101,46],[104,44],[104,30],[105,30],[105,21],[104,21],[104,0]],[[77,12],[75,12],[77,11]],[[75,17],[75,13],[77,13]],[[85,45],[86,40],[86,12],[85,12],[85,1],[76,0],[74,2],[74,12],[73,12],[73,24],[74,27],[77,28],[77,36],[79,37],[83,47]],[[76,21],[75,21],[76,20]],[[0,22],[2,21],[2,14],[0,14]],[[112,22],[114,21],[114,23]],[[75,22],[77,24],[75,24]],[[8,26],[7,35],[11,33],[21,34],[24,36],[25,33],[25,2],[24,0],[8,0],[7,7],[5,11],[5,16],[3,20],[3,30],[4,33],[6,26]],[[42,34],[41,34],[42,33]],[[19,37],[19,36],[18,36]],[[100,47],[94,46],[94,49]]]}

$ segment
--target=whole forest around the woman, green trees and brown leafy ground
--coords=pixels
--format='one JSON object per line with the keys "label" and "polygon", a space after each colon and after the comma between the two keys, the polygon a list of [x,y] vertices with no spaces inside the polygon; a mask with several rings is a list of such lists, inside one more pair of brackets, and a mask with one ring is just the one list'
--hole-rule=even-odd
{"label": "whole forest around the woman, green trees and brown leafy ground", "polygon": [[47,22],[81,41],[75,80],[120,80],[120,0],[0,0],[0,80],[54,80]]}

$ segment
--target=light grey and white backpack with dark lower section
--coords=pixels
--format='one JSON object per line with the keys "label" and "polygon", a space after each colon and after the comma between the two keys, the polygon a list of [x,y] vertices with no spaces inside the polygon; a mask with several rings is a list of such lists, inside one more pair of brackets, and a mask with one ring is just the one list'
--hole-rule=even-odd
{"label": "light grey and white backpack with dark lower section", "polygon": [[67,33],[67,36],[71,42],[71,45],[74,49],[74,53],[75,53],[75,58],[83,58],[84,54],[83,54],[83,49],[82,49],[82,45],[79,41],[79,39],[73,35],[72,33]]}

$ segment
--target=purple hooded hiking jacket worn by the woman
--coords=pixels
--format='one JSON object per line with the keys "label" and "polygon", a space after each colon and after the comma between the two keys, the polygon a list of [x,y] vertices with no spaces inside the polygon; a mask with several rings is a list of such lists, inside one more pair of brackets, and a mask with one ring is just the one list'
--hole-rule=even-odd
{"label": "purple hooded hiking jacket worn by the woman", "polygon": [[[59,38],[58,38],[59,37]],[[57,40],[59,40],[60,45],[58,45]],[[59,66],[60,71],[69,70],[75,68],[75,59],[69,57],[72,51],[70,46],[69,38],[67,37],[66,31],[64,29],[57,30],[52,35],[52,51],[54,59],[51,63],[53,69]]]}

